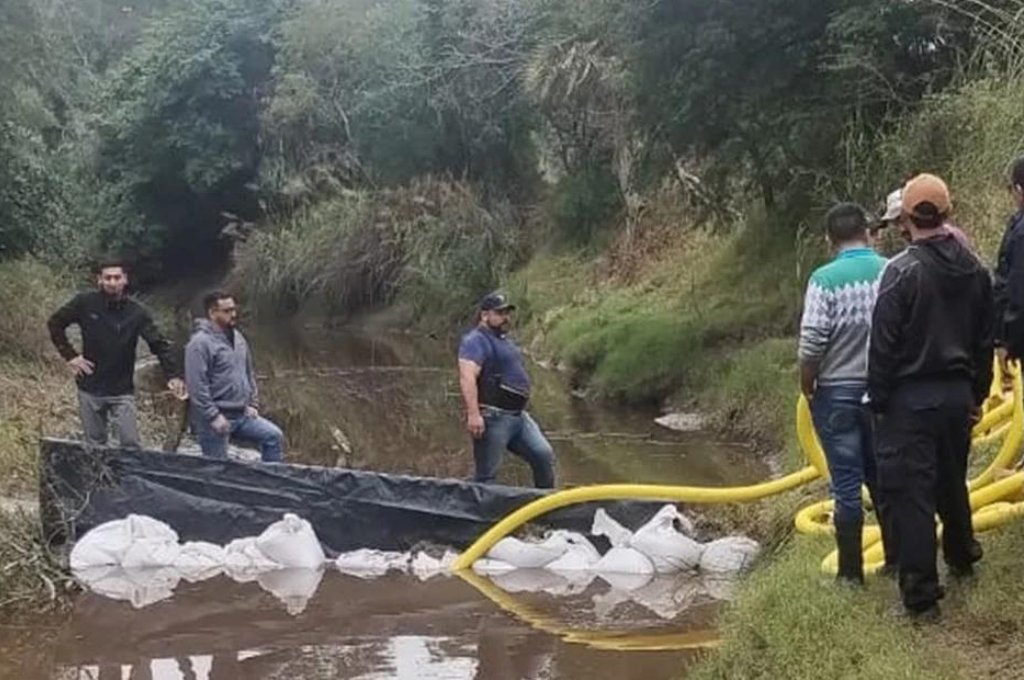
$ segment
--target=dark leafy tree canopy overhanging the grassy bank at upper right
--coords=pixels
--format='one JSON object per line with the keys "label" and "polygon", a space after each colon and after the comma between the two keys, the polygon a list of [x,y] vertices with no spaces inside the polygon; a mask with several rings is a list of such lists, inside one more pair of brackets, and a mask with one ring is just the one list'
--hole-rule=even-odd
{"label": "dark leafy tree canopy overhanging the grassy bank at upper right", "polygon": [[635,44],[639,104],[677,154],[750,177],[773,208],[830,167],[854,116],[878,128],[948,82],[963,24],[886,0],[656,3]]}

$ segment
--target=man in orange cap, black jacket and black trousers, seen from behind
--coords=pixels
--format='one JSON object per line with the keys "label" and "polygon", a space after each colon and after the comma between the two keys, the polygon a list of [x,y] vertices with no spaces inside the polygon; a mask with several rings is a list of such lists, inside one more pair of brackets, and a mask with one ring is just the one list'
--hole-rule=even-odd
{"label": "man in orange cap, black jacket and black trousers, seen from behind", "polygon": [[952,576],[981,557],[971,526],[971,427],[992,379],[994,310],[988,272],[941,226],[945,183],[919,175],[903,189],[911,237],[879,288],[868,353],[868,399],[879,415],[879,485],[892,506],[899,586],[911,615],[938,613],[935,513]]}

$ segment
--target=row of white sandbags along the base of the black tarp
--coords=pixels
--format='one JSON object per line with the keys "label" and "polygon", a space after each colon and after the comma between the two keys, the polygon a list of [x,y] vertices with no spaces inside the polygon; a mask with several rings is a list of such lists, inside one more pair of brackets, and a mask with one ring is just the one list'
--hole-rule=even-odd
{"label": "row of white sandbags along the base of the black tarp", "polygon": [[[510,592],[581,593],[599,576],[618,591],[639,591],[643,599],[642,589],[655,576],[728,576],[749,566],[760,551],[743,537],[700,543],[692,523],[673,505],[636,532],[598,510],[591,534],[604,537],[610,549],[602,555],[586,536],[565,530],[550,532],[540,541],[509,537],[473,569]],[[182,543],[166,523],[129,515],[82,537],[72,550],[71,567],[91,590],[137,607],[170,597],[182,579],[196,583],[224,573],[240,583],[258,583],[295,613],[315,593],[326,564],[362,579],[401,572],[425,581],[450,572],[456,558],[455,552],[436,547],[409,553],[364,549],[328,562],[312,525],[291,513],[259,536],[226,546]]]}

